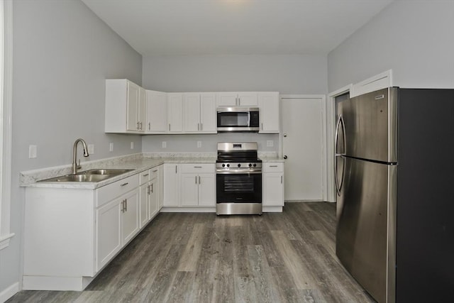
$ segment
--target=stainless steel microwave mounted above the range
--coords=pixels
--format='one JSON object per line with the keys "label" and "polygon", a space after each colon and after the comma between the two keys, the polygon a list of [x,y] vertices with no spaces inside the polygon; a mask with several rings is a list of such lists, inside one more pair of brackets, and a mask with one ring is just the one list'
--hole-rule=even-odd
{"label": "stainless steel microwave mounted above the range", "polygon": [[260,130],[258,107],[218,107],[218,131]]}

